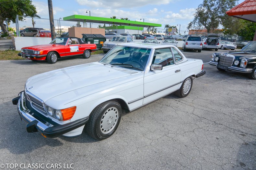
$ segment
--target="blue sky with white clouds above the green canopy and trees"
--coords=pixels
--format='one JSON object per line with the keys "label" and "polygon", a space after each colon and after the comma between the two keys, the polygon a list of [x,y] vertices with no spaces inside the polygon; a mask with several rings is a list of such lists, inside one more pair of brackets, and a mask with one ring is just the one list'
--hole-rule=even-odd
{"label": "blue sky with white clouds above the green canopy and trees", "polygon": [[[239,0],[239,3],[244,0]],[[187,30],[186,27],[193,20],[195,8],[203,0],[52,0],[54,19],[63,18],[74,14],[89,15],[86,10],[91,11],[91,16],[112,17],[118,19],[128,17],[133,21],[177,25],[180,30]],[[32,0],[36,6],[37,14],[41,18],[49,18],[48,4],[46,0]],[[179,26],[177,26],[179,28]]]}

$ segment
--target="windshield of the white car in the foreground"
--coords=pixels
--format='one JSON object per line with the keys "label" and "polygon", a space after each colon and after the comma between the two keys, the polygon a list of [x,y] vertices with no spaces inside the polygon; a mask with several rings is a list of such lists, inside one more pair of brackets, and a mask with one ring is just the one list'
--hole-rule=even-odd
{"label": "windshield of the white car in the foreground", "polygon": [[151,49],[116,45],[99,62],[144,71]]}

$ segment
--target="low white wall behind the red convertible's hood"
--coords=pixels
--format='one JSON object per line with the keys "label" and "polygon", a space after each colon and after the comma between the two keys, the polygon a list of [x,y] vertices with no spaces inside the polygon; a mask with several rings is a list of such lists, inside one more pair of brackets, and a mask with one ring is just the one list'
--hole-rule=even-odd
{"label": "low white wall behind the red convertible's hood", "polygon": [[22,47],[49,44],[52,38],[46,37],[14,37],[14,46],[16,50],[21,50]]}

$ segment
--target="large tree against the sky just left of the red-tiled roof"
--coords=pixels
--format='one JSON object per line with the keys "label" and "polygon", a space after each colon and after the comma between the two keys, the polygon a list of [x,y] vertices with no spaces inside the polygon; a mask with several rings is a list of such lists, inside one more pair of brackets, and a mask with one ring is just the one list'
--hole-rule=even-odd
{"label": "large tree against the sky just left of the red-tiled roof", "polygon": [[238,0],[204,0],[196,8],[194,19],[188,25],[188,29],[202,29],[212,33],[220,24],[225,23],[228,16],[226,11],[236,6]]}

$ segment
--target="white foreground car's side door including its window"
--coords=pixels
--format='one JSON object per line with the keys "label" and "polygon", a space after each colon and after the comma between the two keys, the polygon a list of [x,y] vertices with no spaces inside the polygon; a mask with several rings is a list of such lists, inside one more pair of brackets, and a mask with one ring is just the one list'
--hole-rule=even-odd
{"label": "white foreground car's side door including its window", "polygon": [[145,73],[143,104],[178,90],[181,84],[180,67],[175,64],[171,49],[156,49],[153,53],[151,64],[161,64],[163,69]]}

